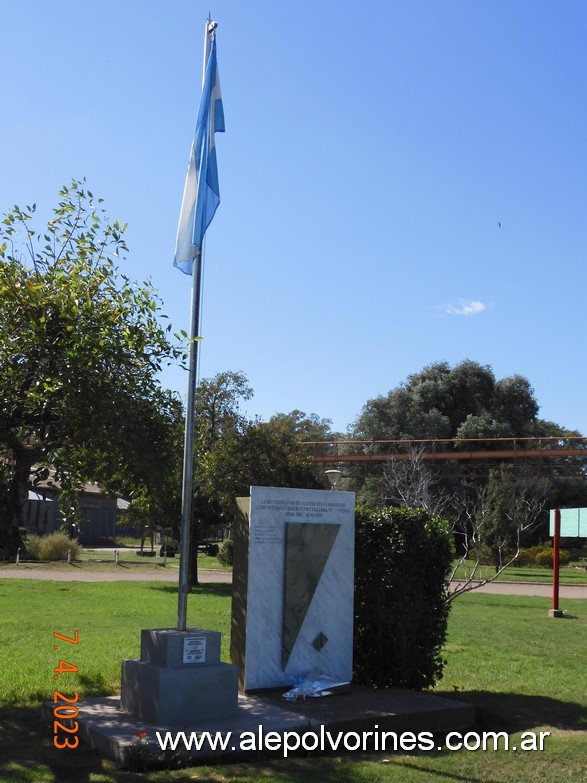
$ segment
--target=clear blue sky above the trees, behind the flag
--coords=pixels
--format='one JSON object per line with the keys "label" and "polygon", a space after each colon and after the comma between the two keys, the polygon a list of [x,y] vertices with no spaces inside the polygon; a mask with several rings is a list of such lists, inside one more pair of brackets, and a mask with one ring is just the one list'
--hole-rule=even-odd
{"label": "clear blue sky above the trees, behind the flag", "polygon": [[48,216],[86,177],[129,223],[123,271],[187,329],[172,260],[209,8],[227,132],[201,374],[344,431],[470,358],[587,433],[583,0],[1,2],[0,211]]}

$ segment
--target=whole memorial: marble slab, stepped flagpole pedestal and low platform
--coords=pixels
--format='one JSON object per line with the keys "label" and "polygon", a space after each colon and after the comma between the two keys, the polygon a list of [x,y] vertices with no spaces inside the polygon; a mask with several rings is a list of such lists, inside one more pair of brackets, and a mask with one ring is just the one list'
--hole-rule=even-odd
{"label": "whole memorial: marble slab, stepped flagpole pedestal and low platform", "polygon": [[[252,487],[238,505],[232,664],[220,662],[218,632],[143,630],[140,659],[123,661],[120,701],[78,703],[80,732],[92,746],[127,764],[135,758],[138,736],[141,743],[145,738],[141,748],[148,742],[157,750],[162,727],[189,728],[200,736],[219,732],[225,740],[221,752],[232,754],[252,736],[296,735],[299,747],[298,734],[317,737],[334,727],[353,733],[357,720],[391,731],[446,732],[472,723],[469,705],[397,689],[354,686],[354,698],[342,710],[334,698],[292,704],[251,693],[290,689],[302,679],[312,686],[331,678],[350,682],[355,498],[350,492]],[[249,693],[239,695],[239,687]],[[51,715],[54,706],[47,704]],[[219,752],[210,742],[191,751],[198,758]]]}

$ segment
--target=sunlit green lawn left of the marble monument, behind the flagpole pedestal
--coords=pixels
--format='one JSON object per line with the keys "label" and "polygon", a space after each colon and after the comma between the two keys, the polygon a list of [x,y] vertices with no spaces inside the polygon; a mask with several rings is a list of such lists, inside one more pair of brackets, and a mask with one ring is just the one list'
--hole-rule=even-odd
{"label": "sunlit green lawn left of the marble monument, behind the flagpole pedestal", "polygon": [[[228,655],[230,585],[197,588],[188,601],[188,623],[223,631]],[[78,666],[59,685],[81,696],[114,693],[120,662],[138,658],[141,628],[174,627],[177,587],[160,582],[0,582],[3,644],[0,648],[0,704],[30,705],[53,693],[58,657]],[[57,632],[79,644],[59,642]],[[59,645],[58,653],[53,645]],[[23,652],[26,651],[26,654]]]}

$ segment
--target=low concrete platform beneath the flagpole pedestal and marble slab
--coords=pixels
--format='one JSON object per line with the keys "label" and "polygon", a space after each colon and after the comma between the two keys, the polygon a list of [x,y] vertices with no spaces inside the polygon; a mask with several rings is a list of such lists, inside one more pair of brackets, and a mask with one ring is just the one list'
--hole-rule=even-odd
{"label": "low concrete platform beneath the flagpole pedestal and marble slab", "polygon": [[[283,748],[277,749],[275,740],[273,750],[267,747],[269,742],[259,747],[260,738],[265,738],[269,732],[277,732],[281,736],[285,732],[296,732],[301,736],[312,731],[320,737],[326,731],[361,733],[376,729],[398,735],[405,731],[442,735],[448,731],[464,730],[475,720],[474,708],[463,702],[428,693],[399,689],[374,691],[353,685],[347,693],[296,702],[286,702],[279,693],[240,695],[238,709],[232,717],[200,717],[175,725],[139,720],[123,710],[120,700],[114,696],[84,699],[77,706],[82,742],[122,766],[133,769],[165,765],[169,763],[170,756],[178,755],[184,759],[191,756],[194,763],[211,757],[218,760],[219,756],[225,757],[223,760],[226,762],[250,761],[257,759],[259,752],[267,758],[282,758]],[[53,707],[53,704],[45,705],[48,720],[52,720]],[[161,736],[167,731],[172,734],[183,731],[188,738],[191,732],[220,732],[228,739],[224,750],[218,747],[212,750],[209,744],[205,744],[199,750],[192,748],[188,752],[180,743],[175,753],[171,750],[163,752],[157,741],[157,731]],[[247,742],[245,750],[239,747],[241,737]],[[253,749],[252,738],[255,753],[248,752]],[[295,738],[290,735],[289,739],[291,747]],[[440,736],[437,744],[439,747],[442,745]],[[386,740],[385,748],[380,743],[379,749],[393,750],[393,738]],[[342,743],[339,751],[346,752]]]}

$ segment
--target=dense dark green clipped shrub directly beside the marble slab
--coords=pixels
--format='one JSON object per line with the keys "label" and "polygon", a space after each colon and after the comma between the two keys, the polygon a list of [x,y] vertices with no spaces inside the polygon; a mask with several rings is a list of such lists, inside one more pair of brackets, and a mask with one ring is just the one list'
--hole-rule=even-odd
{"label": "dense dark green clipped shrub directly beside the marble slab", "polygon": [[442,677],[448,526],[422,509],[357,509],[356,682],[421,689]]}

